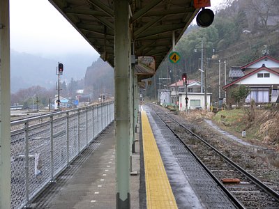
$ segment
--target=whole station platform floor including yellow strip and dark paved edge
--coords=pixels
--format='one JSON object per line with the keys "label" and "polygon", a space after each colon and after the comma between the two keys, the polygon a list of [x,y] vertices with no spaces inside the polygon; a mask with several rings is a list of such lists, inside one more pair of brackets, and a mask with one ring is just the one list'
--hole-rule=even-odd
{"label": "whole station platform floor including yellow strip and dark paved edge", "polygon": [[[137,127],[130,208],[235,208],[152,109],[142,107]],[[114,130],[112,123],[31,207],[116,208]]]}

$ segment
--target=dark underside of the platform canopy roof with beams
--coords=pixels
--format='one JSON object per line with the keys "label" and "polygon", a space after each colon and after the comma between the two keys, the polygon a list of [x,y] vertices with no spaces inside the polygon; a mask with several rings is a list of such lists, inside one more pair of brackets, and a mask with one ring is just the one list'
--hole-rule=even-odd
{"label": "dark underside of the platform canopy roof with beams", "polygon": [[[131,0],[130,23],[136,56],[153,56],[158,69],[199,9],[193,0]],[[77,31],[114,66],[114,0],[50,0]]]}

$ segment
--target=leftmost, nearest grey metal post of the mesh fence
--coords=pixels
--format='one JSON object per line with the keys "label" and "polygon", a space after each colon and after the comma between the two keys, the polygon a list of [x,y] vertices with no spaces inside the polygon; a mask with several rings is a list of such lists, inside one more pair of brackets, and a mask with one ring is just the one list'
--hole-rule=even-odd
{"label": "leftmost, nearest grey metal post of the mesh fence", "polygon": [[27,206],[29,207],[29,122],[27,121],[25,123],[25,153],[24,153],[24,160],[25,160],[25,189],[26,189],[26,201],[27,201]]}

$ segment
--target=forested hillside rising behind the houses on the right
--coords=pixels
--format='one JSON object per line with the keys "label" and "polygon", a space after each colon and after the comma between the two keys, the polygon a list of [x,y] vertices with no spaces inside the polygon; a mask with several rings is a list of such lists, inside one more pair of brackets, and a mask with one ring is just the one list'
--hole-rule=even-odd
{"label": "forested hillside rising behind the houses on the right", "polygon": [[208,92],[213,93],[213,101],[217,101],[219,60],[221,86],[224,86],[225,63],[227,82],[229,82],[229,68],[232,66],[245,65],[264,53],[279,58],[278,14],[279,3],[276,0],[226,1],[216,11],[211,26],[199,28],[193,25],[187,29],[176,44],[176,51],[182,57],[181,61],[178,64],[171,64],[166,59],[160,65],[156,76],[152,78],[152,86],[146,89],[146,95],[149,98],[154,98],[158,88],[162,88],[163,85],[159,82],[160,77],[170,77],[171,81],[174,82],[174,68],[177,72],[176,80],[181,79],[183,72],[187,72],[188,79],[200,80],[198,68],[201,68],[202,63],[203,39],[206,86]]}

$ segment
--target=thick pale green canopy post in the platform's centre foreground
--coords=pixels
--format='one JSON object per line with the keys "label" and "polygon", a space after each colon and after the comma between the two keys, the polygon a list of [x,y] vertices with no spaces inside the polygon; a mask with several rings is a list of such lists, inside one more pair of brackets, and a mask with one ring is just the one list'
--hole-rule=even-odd
{"label": "thick pale green canopy post in the platform's centre foreground", "polygon": [[130,208],[129,1],[114,1],[116,208]]}

